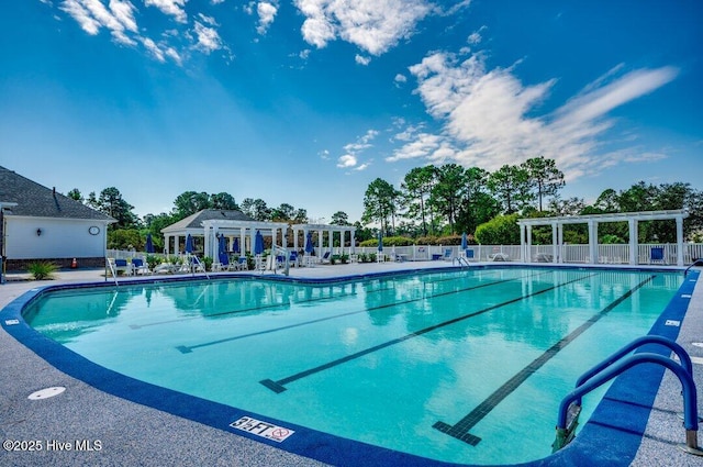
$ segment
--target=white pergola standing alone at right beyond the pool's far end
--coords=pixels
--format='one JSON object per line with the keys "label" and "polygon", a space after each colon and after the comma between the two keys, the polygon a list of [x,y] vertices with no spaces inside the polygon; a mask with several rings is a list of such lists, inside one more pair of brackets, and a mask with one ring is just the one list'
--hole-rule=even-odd
{"label": "white pergola standing alone at right beyond the pool's far end", "polygon": [[683,266],[683,220],[689,213],[683,210],[669,211],[641,211],[641,212],[620,212],[612,214],[591,214],[591,215],[567,215],[559,218],[537,218],[521,219],[517,221],[520,225],[520,254],[521,260],[525,263],[532,262],[532,227],[536,225],[551,225],[551,247],[553,262],[562,263],[561,246],[563,245],[563,225],[565,224],[588,224],[589,226],[589,258],[592,264],[599,262],[598,258],[598,226],[605,222],[624,222],[629,224],[629,264],[638,264],[637,258],[637,223],[640,221],[666,221],[676,220],[677,222],[677,265]]}

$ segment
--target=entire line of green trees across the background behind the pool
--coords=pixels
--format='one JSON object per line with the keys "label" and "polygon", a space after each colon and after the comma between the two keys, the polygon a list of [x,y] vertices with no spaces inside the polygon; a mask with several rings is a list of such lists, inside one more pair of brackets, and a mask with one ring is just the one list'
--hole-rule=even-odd
{"label": "entire line of green trees across the background behind the pool", "polygon": [[[562,199],[565,176],[554,159],[533,157],[520,165],[504,165],[495,171],[479,167],[465,168],[457,164],[412,168],[400,186],[377,178],[364,194],[364,212],[354,223],[359,242],[384,236],[403,236],[421,242],[469,234],[484,244],[517,243],[518,218],[583,215],[615,212],[687,209],[684,235],[703,242],[703,192],[690,184],[674,182],[658,186],[639,181],[631,188],[604,190],[596,201],[588,204],[581,198]],[[257,221],[308,223],[308,211],[282,203],[269,207],[260,198],[245,198],[237,203],[226,192],[186,191],[174,200],[170,212],[146,214],[140,219],[134,207],[125,201],[115,187],[83,198],[74,188],[68,197],[103,212],[116,220],[108,231],[109,248],[143,248],[148,233],[155,247],[163,248],[161,229],[203,209],[239,210]],[[332,214],[332,224],[348,225],[344,211]],[[534,229],[535,244],[551,243],[550,229]],[[626,223],[602,224],[601,243],[624,243]],[[639,241],[674,242],[676,226],[671,222],[639,223]],[[482,237],[481,237],[482,236]],[[585,226],[569,225],[565,241],[585,243]]]}

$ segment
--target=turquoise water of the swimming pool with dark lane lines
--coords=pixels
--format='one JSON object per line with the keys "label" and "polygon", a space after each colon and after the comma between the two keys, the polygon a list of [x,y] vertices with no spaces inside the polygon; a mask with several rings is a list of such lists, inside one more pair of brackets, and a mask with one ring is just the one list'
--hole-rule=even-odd
{"label": "turquoise water of the swimming pool with dark lane lines", "polygon": [[560,398],[646,334],[681,281],[516,268],[327,285],[219,280],[53,292],[25,318],[99,365],[257,420],[504,464],[550,453]]}

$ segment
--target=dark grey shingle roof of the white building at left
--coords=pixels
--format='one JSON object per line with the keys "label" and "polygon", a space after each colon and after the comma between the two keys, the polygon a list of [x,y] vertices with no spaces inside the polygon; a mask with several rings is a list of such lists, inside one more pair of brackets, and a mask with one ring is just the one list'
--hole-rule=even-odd
{"label": "dark grey shingle roof of the white building at left", "polygon": [[5,211],[5,215],[26,215],[32,218],[90,219],[114,222],[109,215],[53,189],[24,178],[0,166],[0,202],[14,202],[18,205]]}

